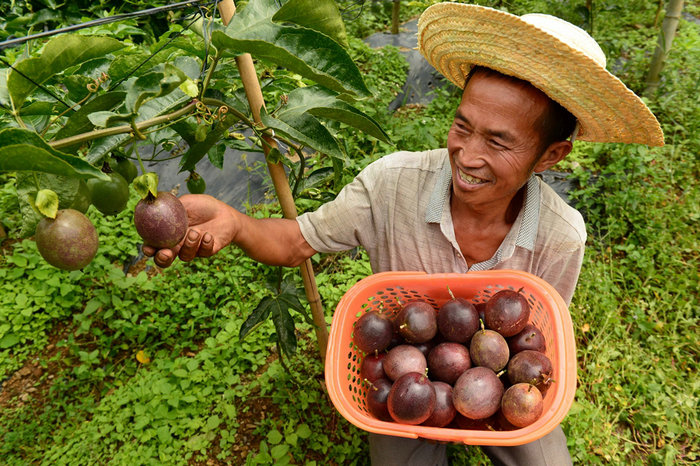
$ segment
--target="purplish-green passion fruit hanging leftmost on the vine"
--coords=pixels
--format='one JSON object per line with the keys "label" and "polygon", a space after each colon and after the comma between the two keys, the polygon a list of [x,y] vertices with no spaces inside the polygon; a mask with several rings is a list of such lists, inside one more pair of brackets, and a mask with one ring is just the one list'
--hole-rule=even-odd
{"label": "purplish-green passion fruit hanging leftmost on the vine", "polygon": [[79,270],[88,265],[99,245],[90,219],[73,209],[59,210],[55,219],[41,219],[34,238],[41,257],[63,270]]}

